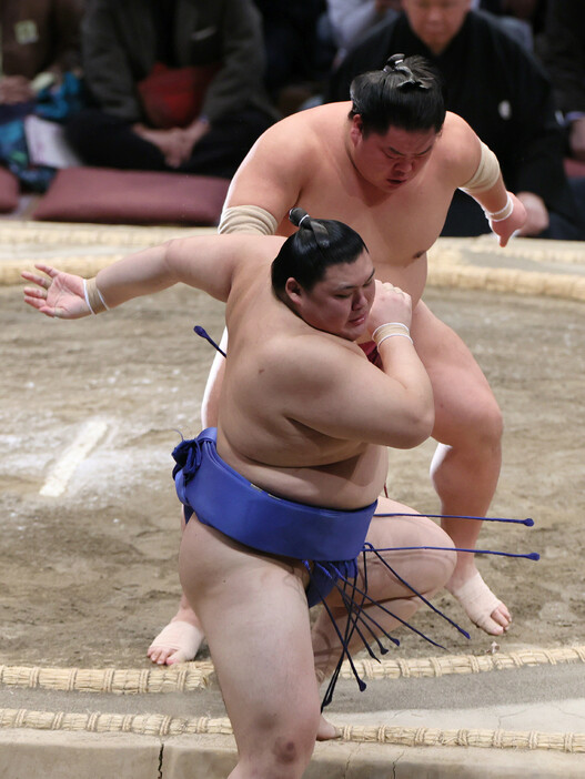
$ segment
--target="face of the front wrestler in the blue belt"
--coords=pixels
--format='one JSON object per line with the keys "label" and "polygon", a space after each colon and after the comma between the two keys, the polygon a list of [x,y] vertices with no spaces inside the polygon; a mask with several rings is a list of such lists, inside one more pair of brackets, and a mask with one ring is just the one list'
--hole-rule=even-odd
{"label": "face of the front wrestler in the blue belt", "polygon": [[355,262],[331,265],[310,291],[290,279],[286,292],[295,313],[312,327],[355,341],[365,332],[374,302],[374,266],[370,254],[362,252]]}

